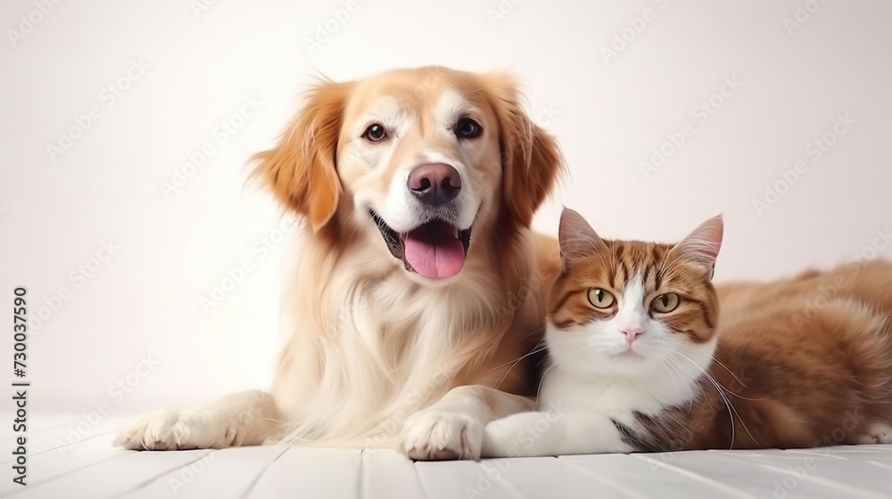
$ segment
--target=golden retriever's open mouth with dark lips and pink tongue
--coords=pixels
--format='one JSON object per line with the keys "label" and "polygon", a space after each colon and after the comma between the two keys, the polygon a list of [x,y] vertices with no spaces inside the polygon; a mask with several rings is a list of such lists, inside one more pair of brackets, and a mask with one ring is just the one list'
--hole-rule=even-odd
{"label": "golden retriever's open mouth with dark lips and pink tongue", "polygon": [[458,230],[450,222],[430,220],[408,233],[398,233],[374,211],[372,217],[387,248],[405,264],[409,272],[425,277],[451,277],[465,265],[467,247],[471,243],[471,227]]}

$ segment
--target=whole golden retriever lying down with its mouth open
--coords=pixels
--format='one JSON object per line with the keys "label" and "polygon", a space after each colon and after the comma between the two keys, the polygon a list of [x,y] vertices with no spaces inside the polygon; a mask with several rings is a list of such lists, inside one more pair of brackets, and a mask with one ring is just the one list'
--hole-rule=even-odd
{"label": "whole golden retriever lying down with its mouth open", "polygon": [[500,73],[429,67],[310,89],[254,173],[301,226],[293,336],[268,392],[161,411],[128,449],[287,443],[476,459],[531,410],[557,242],[530,229],[563,168]]}

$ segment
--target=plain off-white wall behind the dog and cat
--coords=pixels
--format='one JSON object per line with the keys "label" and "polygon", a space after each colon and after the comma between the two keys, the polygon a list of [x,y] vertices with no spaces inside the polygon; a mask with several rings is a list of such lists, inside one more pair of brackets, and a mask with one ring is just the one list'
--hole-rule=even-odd
{"label": "plain off-white wall behind the dog and cat", "polygon": [[[544,232],[562,204],[605,237],[665,241],[723,212],[719,279],[892,255],[877,235],[892,229],[882,0],[40,4],[0,6],[0,296],[25,285],[43,317],[32,413],[268,385],[293,231],[245,163],[319,75],[514,72],[571,171]],[[655,149],[668,158],[651,169]]]}

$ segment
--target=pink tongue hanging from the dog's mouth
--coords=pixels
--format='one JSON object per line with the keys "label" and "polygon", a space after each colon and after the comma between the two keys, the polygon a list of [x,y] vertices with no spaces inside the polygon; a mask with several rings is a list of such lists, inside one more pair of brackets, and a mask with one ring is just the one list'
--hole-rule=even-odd
{"label": "pink tongue hanging from the dog's mouth", "polygon": [[455,225],[428,222],[407,233],[404,242],[406,261],[425,277],[450,277],[465,265],[465,249]]}

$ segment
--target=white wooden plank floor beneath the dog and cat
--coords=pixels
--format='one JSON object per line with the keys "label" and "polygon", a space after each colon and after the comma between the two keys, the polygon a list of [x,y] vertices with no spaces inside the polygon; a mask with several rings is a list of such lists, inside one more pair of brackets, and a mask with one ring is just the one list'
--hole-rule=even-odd
{"label": "white wooden plank floor beneath the dog and cat", "polygon": [[111,447],[120,422],[93,426],[72,416],[32,423],[27,487],[12,483],[12,425],[4,425],[0,496],[892,497],[892,446],[411,462],[390,451],[285,446],[128,452]]}

